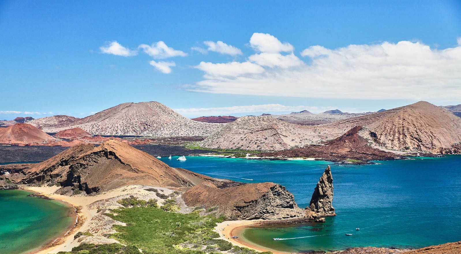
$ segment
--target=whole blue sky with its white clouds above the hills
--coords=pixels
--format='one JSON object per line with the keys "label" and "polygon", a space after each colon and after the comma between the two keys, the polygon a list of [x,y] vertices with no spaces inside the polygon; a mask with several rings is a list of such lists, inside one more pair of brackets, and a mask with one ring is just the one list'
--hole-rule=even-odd
{"label": "whole blue sky with its white clouds above the hills", "polygon": [[3,0],[0,38],[6,120],[461,104],[461,1]]}

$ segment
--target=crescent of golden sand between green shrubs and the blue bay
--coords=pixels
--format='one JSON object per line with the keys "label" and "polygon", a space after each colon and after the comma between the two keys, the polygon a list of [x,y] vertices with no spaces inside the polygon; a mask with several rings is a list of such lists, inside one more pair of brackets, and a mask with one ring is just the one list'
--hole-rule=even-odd
{"label": "crescent of golden sand between green shrubs and the blue bay", "polygon": [[[236,231],[241,229],[242,227],[246,226],[251,226],[251,225],[260,225],[262,222],[269,222],[267,219],[262,220],[262,219],[254,219],[254,220],[230,220],[230,221],[224,221],[221,223],[218,223],[218,225],[215,227],[216,231],[219,232],[219,238],[231,242],[234,245],[240,246],[240,247],[246,247],[246,248],[251,248],[260,252],[263,251],[271,251],[274,254],[290,254],[290,252],[282,252],[282,251],[277,251],[273,250],[270,248],[264,248],[259,245],[251,244],[249,242],[243,241],[242,238],[232,238],[233,236],[238,236],[236,235]],[[278,222],[278,221],[274,221]]]}

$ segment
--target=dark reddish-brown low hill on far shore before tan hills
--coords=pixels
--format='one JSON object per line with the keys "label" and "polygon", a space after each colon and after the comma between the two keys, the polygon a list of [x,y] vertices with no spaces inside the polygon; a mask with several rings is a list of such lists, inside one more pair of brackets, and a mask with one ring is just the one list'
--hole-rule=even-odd
{"label": "dark reddish-brown low hill on far shore before tan hills", "polygon": [[[310,145],[303,148],[284,150],[272,153],[260,153],[258,156],[268,157],[310,157],[322,158],[333,162],[365,163],[372,160],[390,160],[398,158],[395,153],[386,152],[368,145],[368,141],[358,135],[361,126],[350,129],[337,139],[333,139],[325,144]],[[359,162],[360,161],[360,162]]]}

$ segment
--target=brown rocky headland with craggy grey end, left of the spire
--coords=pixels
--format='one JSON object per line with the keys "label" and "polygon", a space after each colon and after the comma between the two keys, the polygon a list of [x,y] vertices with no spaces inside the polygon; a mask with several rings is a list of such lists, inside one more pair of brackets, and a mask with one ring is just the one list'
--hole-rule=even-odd
{"label": "brown rocky headland with craggy grey end, left of the spire", "polygon": [[218,212],[231,219],[302,218],[294,196],[284,186],[274,183],[245,184],[229,188],[202,183],[183,194],[191,207],[218,207]]}

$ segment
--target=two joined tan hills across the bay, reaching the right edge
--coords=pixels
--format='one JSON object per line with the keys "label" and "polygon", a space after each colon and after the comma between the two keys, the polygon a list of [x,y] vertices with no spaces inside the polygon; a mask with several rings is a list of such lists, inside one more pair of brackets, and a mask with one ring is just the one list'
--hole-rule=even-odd
{"label": "two joined tan hills across the bay, reaching the right edge", "polygon": [[356,126],[370,144],[390,150],[459,152],[461,118],[421,101],[396,109],[349,118],[320,126],[300,126],[271,116],[245,116],[229,123],[201,145],[210,148],[284,150],[295,145],[336,139]]}

